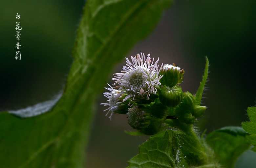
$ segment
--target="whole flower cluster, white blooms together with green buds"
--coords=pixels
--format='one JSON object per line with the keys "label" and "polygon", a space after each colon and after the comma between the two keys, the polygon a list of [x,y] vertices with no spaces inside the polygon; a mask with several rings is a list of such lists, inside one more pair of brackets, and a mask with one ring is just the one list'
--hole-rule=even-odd
{"label": "whole flower cluster, white blooms together with green buds", "polygon": [[166,120],[176,127],[177,123],[193,124],[196,118],[202,116],[205,106],[196,102],[194,95],[182,92],[178,85],[183,80],[184,70],[173,65],[161,65],[158,60],[141,53],[131,61],[126,58],[126,66],[121,73],[114,74],[112,87],[105,92],[108,103],[107,114],[110,119],[113,114],[127,114],[128,124],[146,135],[160,131]]}

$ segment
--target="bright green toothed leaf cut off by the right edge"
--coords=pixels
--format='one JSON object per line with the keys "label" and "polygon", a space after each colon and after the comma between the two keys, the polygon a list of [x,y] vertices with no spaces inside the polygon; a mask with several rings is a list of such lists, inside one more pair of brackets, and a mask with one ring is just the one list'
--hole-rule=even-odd
{"label": "bright green toothed leaf cut off by the right edge", "polygon": [[251,150],[256,152],[256,107],[248,107],[247,114],[251,122],[242,123],[242,127],[250,134],[246,138],[254,146]]}

